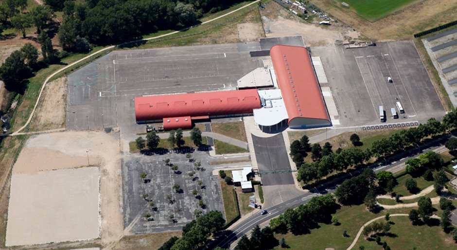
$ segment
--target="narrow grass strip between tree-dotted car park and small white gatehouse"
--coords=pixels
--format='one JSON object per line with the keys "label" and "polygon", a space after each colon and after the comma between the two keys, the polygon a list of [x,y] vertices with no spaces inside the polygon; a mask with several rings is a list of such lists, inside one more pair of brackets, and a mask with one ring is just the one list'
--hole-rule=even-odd
{"label": "narrow grass strip between tree-dotted car park and small white gatehouse", "polygon": [[[226,171],[227,176],[232,177],[230,171]],[[240,217],[238,209],[238,201],[236,199],[235,189],[233,185],[228,185],[223,179],[220,179],[222,189],[222,202],[224,203],[224,211],[226,217],[226,225],[232,223]]]}

